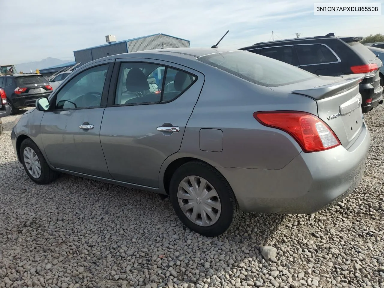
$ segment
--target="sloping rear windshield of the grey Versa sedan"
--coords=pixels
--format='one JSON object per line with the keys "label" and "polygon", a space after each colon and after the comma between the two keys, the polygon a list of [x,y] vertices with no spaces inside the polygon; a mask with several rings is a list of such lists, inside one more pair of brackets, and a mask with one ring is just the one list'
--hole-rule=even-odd
{"label": "sloping rear windshield of the grey Versa sedan", "polygon": [[267,87],[283,86],[317,77],[287,63],[247,51],[214,53],[201,56],[197,60]]}

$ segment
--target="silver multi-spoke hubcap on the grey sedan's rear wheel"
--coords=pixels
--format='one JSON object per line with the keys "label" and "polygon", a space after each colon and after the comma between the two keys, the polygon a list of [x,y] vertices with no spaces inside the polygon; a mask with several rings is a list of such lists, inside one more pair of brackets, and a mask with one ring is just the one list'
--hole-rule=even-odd
{"label": "silver multi-spoke hubcap on the grey sedan's rear wheel", "polygon": [[179,184],[177,199],[184,214],[199,226],[211,226],[220,217],[220,198],[214,187],[202,177],[185,177]]}

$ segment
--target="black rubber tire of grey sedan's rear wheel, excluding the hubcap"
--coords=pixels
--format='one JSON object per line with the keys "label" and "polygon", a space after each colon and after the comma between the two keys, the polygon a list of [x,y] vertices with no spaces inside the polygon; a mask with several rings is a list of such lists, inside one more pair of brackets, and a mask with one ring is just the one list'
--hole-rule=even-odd
{"label": "black rubber tire of grey sedan's rear wheel, excluding the hubcap", "polygon": [[[214,187],[220,198],[220,217],[217,222],[211,226],[202,227],[193,223],[180,208],[177,199],[177,190],[181,180],[191,175],[199,176],[207,180]],[[215,171],[213,167],[205,166],[204,164],[201,165],[200,163],[187,163],[180,166],[174,175],[172,175],[170,181],[169,197],[177,216],[188,228],[207,237],[221,235],[231,226],[233,217],[235,217],[235,205],[233,205],[231,201],[231,196],[234,197],[227,180],[225,180],[217,170]]]}

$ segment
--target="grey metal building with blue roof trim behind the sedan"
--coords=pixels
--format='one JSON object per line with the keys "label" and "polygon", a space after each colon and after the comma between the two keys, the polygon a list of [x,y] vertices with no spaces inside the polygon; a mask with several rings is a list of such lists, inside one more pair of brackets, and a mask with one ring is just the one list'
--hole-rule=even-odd
{"label": "grey metal building with blue roof trim behind the sedan", "polygon": [[163,33],[157,33],[153,35],[117,42],[109,42],[109,44],[76,50],[73,51],[73,54],[75,62],[81,63],[81,65],[83,65],[92,60],[103,58],[109,55],[142,50],[179,47],[190,47],[190,41]]}

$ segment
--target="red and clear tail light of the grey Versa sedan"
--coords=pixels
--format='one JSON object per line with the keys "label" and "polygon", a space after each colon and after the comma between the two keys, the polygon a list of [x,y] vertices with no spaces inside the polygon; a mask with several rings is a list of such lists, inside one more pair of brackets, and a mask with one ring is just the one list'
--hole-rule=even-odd
{"label": "red and clear tail light of the grey Versa sedan", "polygon": [[341,145],[338,137],[326,123],[313,114],[296,111],[255,112],[260,124],[290,134],[304,152],[316,152]]}

